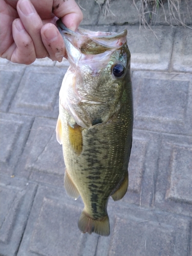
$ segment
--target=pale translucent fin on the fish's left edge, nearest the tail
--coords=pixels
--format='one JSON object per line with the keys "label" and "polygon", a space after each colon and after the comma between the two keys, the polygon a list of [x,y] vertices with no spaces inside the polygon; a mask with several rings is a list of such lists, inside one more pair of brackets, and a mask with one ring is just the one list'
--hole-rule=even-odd
{"label": "pale translucent fin on the fish's left edge, nearest the tail", "polygon": [[73,183],[72,179],[70,178],[67,169],[64,176],[64,187],[66,189],[67,195],[77,200],[77,198],[79,197],[79,191]]}

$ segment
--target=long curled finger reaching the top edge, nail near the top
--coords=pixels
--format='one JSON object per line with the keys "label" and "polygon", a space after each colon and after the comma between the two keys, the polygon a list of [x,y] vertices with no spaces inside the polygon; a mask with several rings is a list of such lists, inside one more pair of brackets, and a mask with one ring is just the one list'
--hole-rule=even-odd
{"label": "long curled finger reaching the top edge, nail near the top", "polygon": [[33,40],[36,57],[44,58],[48,56],[48,52],[42,43],[40,35],[40,30],[43,25],[42,20],[31,2],[29,0],[19,0],[17,11],[26,31]]}

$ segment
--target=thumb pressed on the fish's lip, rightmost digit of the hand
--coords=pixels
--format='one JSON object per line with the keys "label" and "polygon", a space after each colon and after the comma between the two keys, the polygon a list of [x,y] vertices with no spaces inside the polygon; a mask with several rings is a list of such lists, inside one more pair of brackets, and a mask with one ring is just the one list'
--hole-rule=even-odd
{"label": "thumb pressed on the fish's lip, rightmost digit of the hand", "polygon": [[78,28],[83,18],[82,12],[74,0],[53,0],[53,13],[58,18],[62,18],[66,27],[73,31]]}

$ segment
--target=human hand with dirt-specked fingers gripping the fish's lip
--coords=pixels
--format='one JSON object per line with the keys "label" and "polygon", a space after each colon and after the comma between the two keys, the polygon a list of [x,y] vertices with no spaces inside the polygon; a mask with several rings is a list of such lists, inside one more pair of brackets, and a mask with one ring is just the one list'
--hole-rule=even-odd
{"label": "human hand with dirt-specked fingers gripping the fish's lip", "polygon": [[75,0],[0,0],[0,57],[29,65],[66,55],[56,20],[75,31],[82,12]]}

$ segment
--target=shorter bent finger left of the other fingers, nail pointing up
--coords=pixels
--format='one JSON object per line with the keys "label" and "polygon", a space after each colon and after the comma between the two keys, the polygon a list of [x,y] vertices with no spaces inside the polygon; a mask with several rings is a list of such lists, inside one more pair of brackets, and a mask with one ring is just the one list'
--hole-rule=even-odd
{"label": "shorter bent finger left of the other fingers, nail pointing up", "polygon": [[12,31],[14,43],[7,52],[8,59],[20,64],[31,64],[36,59],[35,48],[20,19],[14,20]]}

